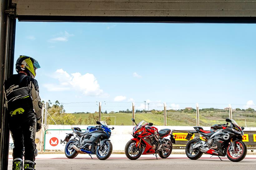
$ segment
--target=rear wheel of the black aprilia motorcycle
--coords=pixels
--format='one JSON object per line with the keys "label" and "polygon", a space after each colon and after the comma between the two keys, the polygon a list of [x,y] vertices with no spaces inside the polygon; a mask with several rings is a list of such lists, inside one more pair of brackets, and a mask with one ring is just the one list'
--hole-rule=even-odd
{"label": "rear wheel of the black aprilia motorcycle", "polygon": [[201,152],[199,148],[191,149],[191,146],[193,146],[194,144],[196,144],[197,141],[198,141],[198,140],[192,139],[192,140],[190,140],[190,141],[187,143],[187,145],[186,145],[185,151],[186,151],[186,155],[187,155],[187,157],[188,157],[189,159],[192,159],[192,160],[199,159],[199,158],[202,156],[202,154],[203,154],[203,152]]}

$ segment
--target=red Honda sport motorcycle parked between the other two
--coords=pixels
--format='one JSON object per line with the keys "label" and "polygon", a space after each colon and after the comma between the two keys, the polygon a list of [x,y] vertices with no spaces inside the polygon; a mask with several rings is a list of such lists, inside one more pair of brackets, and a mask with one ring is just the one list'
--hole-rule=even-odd
{"label": "red Honda sport motorcycle parked between the other two", "polygon": [[[131,119],[135,123],[134,119]],[[136,123],[135,123],[136,124]],[[170,140],[165,137],[170,135]],[[170,129],[158,131],[153,123],[141,121],[133,128],[134,137],[125,146],[126,157],[135,160],[140,155],[158,154],[161,158],[167,158],[172,152],[172,143],[175,144],[174,136]]]}

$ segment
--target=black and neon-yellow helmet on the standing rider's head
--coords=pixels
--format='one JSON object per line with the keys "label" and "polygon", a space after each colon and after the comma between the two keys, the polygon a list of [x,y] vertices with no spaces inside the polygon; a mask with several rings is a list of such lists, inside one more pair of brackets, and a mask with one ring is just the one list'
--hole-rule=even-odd
{"label": "black and neon-yellow helmet on the standing rider's head", "polygon": [[36,69],[40,68],[39,63],[32,57],[29,56],[20,56],[16,62],[16,71],[25,71],[28,76],[35,78]]}

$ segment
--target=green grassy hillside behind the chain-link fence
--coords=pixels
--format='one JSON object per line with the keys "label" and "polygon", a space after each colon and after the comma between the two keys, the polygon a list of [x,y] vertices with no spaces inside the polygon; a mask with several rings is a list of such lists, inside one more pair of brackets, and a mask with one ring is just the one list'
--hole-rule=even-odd
{"label": "green grassy hillside behind the chain-link fence", "polygon": [[[76,119],[80,119],[81,122],[78,124],[87,125],[96,123],[98,120],[97,113],[73,113]],[[108,117],[108,118],[107,118]],[[196,126],[196,113],[183,113],[183,112],[167,112],[167,126]],[[110,113],[101,114],[101,120],[110,122],[110,125],[132,125],[131,122],[132,113]],[[229,118],[228,111],[214,112],[207,111],[201,112],[199,114],[199,124],[200,126],[211,126],[213,124],[224,124],[225,118]],[[94,119],[94,120],[91,120]],[[108,121],[107,121],[108,119]],[[109,120],[110,119],[110,120]],[[247,112],[234,112],[233,119],[239,124],[239,126],[244,127],[256,127],[256,113]],[[140,121],[152,122],[154,125],[163,126],[164,125],[164,115],[163,113],[135,113],[136,123]],[[94,124],[95,124],[94,123]],[[246,126],[245,126],[246,125]]]}

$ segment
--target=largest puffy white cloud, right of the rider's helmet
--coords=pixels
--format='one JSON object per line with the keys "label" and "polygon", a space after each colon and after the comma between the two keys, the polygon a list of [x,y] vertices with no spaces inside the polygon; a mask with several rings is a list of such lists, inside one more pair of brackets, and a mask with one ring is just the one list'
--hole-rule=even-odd
{"label": "largest puffy white cloud, right of the rider's helmet", "polygon": [[93,74],[82,75],[79,72],[68,74],[63,69],[58,69],[52,77],[58,79],[59,85],[44,85],[48,91],[77,90],[87,96],[106,96]]}

